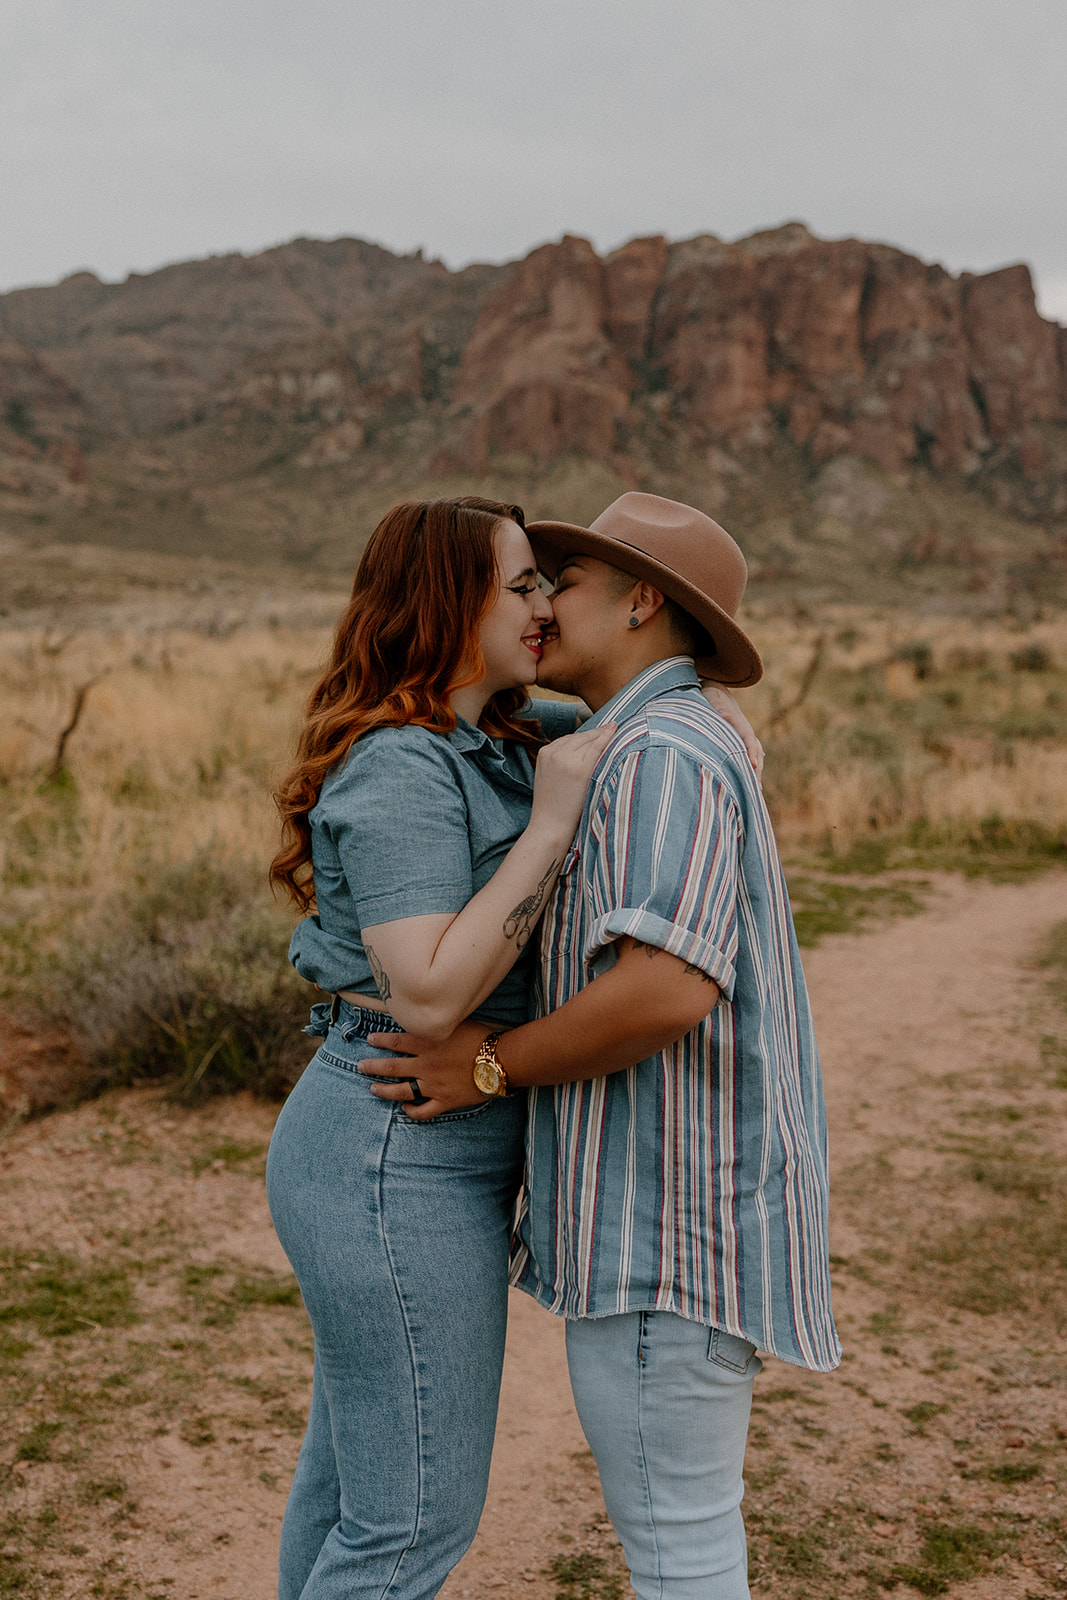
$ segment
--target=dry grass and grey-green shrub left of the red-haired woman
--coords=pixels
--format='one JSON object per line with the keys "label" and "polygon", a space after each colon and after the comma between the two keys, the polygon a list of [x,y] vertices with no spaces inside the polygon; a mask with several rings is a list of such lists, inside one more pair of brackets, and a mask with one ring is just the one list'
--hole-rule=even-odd
{"label": "dry grass and grey-green shrub left of the red-haired woman", "polygon": [[299,1069],[306,986],[264,869],[323,643],[267,627],[2,635],[0,998],[66,1029],[90,1082],[278,1093]]}

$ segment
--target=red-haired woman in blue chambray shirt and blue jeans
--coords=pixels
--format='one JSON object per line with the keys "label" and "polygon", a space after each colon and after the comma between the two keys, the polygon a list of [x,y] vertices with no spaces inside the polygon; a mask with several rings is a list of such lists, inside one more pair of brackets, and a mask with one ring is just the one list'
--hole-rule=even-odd
{"label": "red-haired woman in blue chambray shirt and blue jeans", "polygon": [[315,1331],[280,1600],[429,1600],[478,1525],[523,1098],[414,1122],[357,1064],[387,1054],[370,1032],[526,1019],[531,933],[614,733],[528,702],[550,616],[520,507],[397,506],[278,794],[290,955],[334,997],[267,1162]]}

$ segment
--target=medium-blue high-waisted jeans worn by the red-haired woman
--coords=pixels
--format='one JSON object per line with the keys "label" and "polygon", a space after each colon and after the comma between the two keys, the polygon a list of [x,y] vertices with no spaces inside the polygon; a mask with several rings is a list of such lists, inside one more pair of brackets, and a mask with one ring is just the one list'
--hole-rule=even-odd
{"label": "medium-blue high-waisted jeans worn by the red-haired woman", "polygon": [[280,1600],[430,1600],[488,1486],[523,1098],[411,1122],[355,1067],[381,1026],[341,1003],[267,1158],[315,1331]]}

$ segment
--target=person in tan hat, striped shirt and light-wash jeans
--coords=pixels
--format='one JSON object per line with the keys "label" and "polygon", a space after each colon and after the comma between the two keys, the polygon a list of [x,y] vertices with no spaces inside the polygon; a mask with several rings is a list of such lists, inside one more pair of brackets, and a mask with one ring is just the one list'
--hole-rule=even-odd
{"label": "person in tan hat, striped shirt and light-wash jeans", "polygon": [[[512,1283],[566,1318],[635,1594],[741,1600],[757,1352],[840,1360],[785,880],[745,749],[699,693],[702,675],[761,675],[736,622],[745,562],[710,517],[656,494],[528,534],[555,586],[537,683],[617,725],[544,915],[542,1014],[389,1045],[414,1058],[414,1118],[531,1090]],[[408,1082],[376,1093],[414,1098]]]}

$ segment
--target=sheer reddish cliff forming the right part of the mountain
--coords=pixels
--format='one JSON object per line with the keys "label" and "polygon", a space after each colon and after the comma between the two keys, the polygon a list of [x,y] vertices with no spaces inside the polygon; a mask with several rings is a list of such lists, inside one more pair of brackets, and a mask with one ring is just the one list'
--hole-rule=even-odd
{"label": "sheer reddish cliff forming the right part of the mountain", "polygon": [[800,224],[734,245],[635,240],[605,261],[565,238],[490,299],[456,398],[478,469],[494,450],[625,456],[656,418],[728,446],[785,432],[814,461],[891,474],[997,456],[1038,478],[1040,424],[1067,422],[1062,352],[1022,266],[953,278]]}

